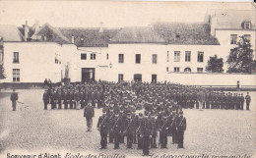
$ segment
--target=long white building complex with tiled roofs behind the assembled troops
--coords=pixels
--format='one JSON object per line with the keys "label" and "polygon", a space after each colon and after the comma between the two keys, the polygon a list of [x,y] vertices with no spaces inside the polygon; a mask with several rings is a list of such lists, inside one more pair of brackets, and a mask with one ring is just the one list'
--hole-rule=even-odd
{"label": "long white building complex with tiled roofs behind the assembled troops", "polygon": [[156,82],[176,73],[206,73],[209,58],[218,55],[226,61],[241,35],[251,41],[255,54],[255,32],[255,12],[236,10],[209,11],[204,23],[195,24],[0,26],[0,59],[6,74],[0,81]]}

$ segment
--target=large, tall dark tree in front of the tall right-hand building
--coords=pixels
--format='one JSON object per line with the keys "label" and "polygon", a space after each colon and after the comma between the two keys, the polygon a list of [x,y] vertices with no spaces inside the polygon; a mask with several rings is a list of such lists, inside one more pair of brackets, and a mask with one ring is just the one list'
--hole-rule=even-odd
{"label": "large, tall dark tree in front of the tall right-hand building", "polygon": [[230,50],[226,62],[227,73],[252,73],[255,69],[250,40],[240,36],[239,42]]}

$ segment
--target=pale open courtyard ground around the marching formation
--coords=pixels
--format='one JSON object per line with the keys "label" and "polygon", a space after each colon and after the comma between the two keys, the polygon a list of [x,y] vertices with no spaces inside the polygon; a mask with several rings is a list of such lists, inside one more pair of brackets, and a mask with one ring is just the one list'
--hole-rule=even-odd
{"label": "pale open courtyard ground around the marching formation", "polygon": [[[12,111],[10,93],[0,93],[0,158],[10,154],[66,153],[141,157],[142,150],[126,149],[125,144],[114,150],[99,150],[99,132],[96,122],[101,109],[96,109],[93,132],[87,132],[83,110],[43,110],[41,89],[19,90],[17,111]],[[185,149],[170,144],[168,149],[151,149],[153,157],[163,155],[209,155],[256,157],[256,92],[251,92],[250,111],[185,109],[187,119]],[[49,157],[50,158],[50,157]],[[68,158],[68,157],[67,157]],[[84,157],[82,157],[84,158]],[[103,157],[102,157],[103,158]],[[109,158],[109,157],[108,157]],[[166,158],[166,157],[165,157]]]}

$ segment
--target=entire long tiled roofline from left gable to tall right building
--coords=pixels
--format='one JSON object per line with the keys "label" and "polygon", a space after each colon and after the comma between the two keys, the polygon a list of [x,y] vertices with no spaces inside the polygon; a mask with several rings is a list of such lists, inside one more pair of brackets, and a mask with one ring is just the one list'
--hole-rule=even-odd
{"label": "entire long tiled roofline from left gable to tall right building", "polygon": [[53,27],[45,24],[35,32],[35,35],[47,34],[50,34],[47,41],[57,43],[71,43],[74,36],[74,44],[78,47],[107,47],[109,43],[219,44],[218,39],[211,35],[208,24],[165,23],[103,28],[103,31],[99,31],[99,27]]}

